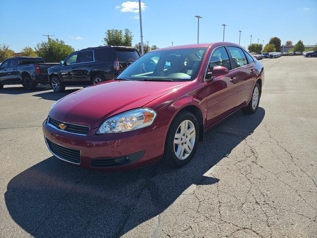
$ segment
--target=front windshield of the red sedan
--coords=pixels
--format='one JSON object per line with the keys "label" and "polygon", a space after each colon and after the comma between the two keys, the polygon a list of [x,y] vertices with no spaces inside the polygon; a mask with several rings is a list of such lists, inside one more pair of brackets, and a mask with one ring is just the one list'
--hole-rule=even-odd
{"label": "front windshield of the red sedan", "polygon": [[196,78],[207,48],[149,52],[127,67],[118,79],[189,81]]}

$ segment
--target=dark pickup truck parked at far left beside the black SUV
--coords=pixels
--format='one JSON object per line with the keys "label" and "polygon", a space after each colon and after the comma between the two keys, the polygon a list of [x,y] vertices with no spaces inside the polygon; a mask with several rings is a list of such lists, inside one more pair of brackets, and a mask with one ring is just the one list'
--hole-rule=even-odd
{"label": "dark pickup truck parked at far left beside the black SUV", "polygon": [[41,57],[13,57],[0,66],[0,88],[3,85],[22,84],[33,90],[41,84],[49,84],[48,68],[59,63],[46,63]]}

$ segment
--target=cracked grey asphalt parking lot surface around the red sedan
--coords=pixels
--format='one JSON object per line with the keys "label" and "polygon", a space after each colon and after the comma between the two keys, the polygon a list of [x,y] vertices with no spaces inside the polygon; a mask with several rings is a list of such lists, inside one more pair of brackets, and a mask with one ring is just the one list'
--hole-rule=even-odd
{"label": "cracked grey asphalt parking lot surface around the red sedan", "polygon": [[0,90],[0,237],[317,237],[317,58],[262,60],[254,115],[207,132],[194,159],[103,173],[48,151],[56,94]]}

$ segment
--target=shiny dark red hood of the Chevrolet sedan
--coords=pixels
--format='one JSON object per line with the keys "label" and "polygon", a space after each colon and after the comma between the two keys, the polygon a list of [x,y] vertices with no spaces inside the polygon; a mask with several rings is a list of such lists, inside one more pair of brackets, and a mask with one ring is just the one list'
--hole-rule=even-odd
{"label": "shiny dark red hood of the Chevrolet sedan", "polygon": [[115,114],[140,108],[189,82],[110,80],[58,100],[49,116],[67,123],[98,127]]}

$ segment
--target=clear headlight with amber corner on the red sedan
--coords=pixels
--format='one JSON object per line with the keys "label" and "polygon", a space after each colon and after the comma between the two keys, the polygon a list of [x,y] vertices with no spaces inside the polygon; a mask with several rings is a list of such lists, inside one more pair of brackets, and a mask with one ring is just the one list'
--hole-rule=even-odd
{"label": "clear headlight with amber corner on the red sedan", "polygon": [[156,117],[157,113],[151,109],[134,109],[106,119],[96,133],[116,133],[143,128],[151,125]]}

